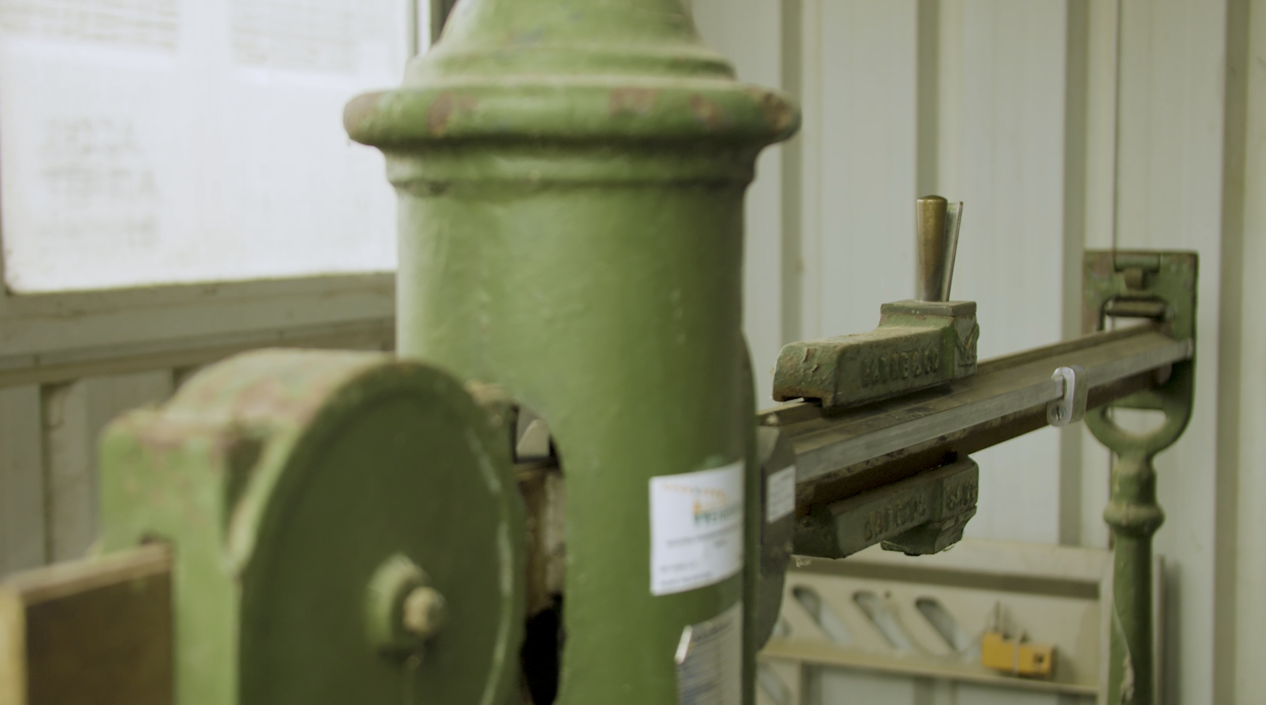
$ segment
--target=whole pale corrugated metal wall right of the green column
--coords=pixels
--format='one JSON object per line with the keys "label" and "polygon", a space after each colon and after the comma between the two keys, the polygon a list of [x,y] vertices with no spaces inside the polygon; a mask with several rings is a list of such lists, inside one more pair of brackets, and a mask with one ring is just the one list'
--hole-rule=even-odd
{"label": "whole pale corrugated metal wall right of the green column", "polygon": [[[742,78],[804,109],[748,204],[758,371],[782,343],[872,328],[881,301],[913,294],[912,201],[925,192],[966,201],[955,296],[979,301],[982,356],[1077,332],[1084,248],[1200,253],[1195,414],[1157,461],[1166,701],[1260,701],[1266,3],[693,8]],[[977,459],[968,534],[1106,546],[1109,458],[1089,434],[1047,429]]]}

